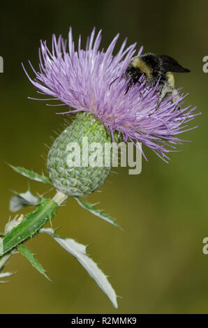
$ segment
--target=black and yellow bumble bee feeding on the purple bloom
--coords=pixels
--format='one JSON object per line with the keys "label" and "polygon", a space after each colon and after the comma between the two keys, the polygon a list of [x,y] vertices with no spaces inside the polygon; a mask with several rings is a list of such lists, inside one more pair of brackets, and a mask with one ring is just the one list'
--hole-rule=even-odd
{"label": "black and yellow bumble bee feeding on the purple bloom", "polygon": [[[158,79],[157,90],[159,91],[158,105],[162,100],[173,96],[172,100],[179,99],[177,90],[174,89],[174,75],[172,72],[188,73],[190,70],[183,68],[179,63],[169,56],[157,56],[156,54],[142,54],[138,57],[133,57],[129,62],[124,73],[128,82],[128,89],[137,82],[147,82],[147,85],[155,87]],[[140,77],[143,75],[142,80]]]}

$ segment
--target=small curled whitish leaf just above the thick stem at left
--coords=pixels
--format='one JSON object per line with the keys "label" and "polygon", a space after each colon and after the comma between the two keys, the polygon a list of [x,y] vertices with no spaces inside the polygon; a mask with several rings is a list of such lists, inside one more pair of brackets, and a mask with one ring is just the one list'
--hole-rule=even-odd
{"label": "small curled whitish leaf just above the thick stem at left", "polygon": [[23,209],[23,207],[27,205],[36,206],[37,204],[38,197],[32,195],[30,191],[27,191],[26,193],[17,193],[17,195],[11,197],[9,209],[10,211],[15,212],[19,211],[20,209]]}

